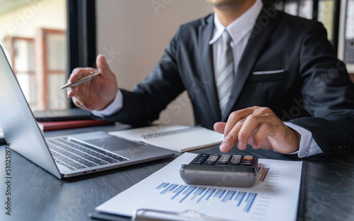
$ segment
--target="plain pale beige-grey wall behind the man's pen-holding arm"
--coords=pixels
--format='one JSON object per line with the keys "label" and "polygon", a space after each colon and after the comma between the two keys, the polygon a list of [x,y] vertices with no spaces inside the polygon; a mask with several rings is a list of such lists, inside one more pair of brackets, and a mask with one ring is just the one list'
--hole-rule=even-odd
{"label": "plain pale beige-grey wall behind the man's pen-holding arm", "polygon": [[[149,75],[178,26],[211,12],[205,0],[96,0],[97,52],[108,59],[118,86],[132,89]],[[186,93],[159,123],[193,125]]]}

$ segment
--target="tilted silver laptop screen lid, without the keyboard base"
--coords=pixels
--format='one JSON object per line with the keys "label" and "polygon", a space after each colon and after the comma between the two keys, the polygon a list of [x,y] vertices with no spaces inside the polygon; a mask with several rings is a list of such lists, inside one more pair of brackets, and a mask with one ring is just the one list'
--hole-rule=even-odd
{"label": "tilted silver laptop screen lid, without the keyboard base", "polygon": [[15,74],[0,50],[0,128],[11,149],[60,178],[42,132]]}

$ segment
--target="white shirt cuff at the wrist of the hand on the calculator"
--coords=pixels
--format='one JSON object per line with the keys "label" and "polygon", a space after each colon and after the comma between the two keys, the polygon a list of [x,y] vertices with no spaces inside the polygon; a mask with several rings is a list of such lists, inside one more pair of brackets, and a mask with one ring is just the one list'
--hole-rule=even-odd
{"label": "white shirt cuff at the wrist of the hand on the calculator", "polygon": [[301,135],[299,150],[291,154],[297,154],[297,157],[302,158],[324,153],[312,137],[312,132],[292,123],[285,122],[285,125],[296,130]]}

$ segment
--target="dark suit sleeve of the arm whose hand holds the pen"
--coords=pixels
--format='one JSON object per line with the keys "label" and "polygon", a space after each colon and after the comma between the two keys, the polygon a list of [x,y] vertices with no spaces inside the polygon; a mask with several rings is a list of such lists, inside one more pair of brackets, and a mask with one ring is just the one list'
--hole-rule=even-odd
{"label": "dark suit sleeve of the arm whose hand holds the pen", "polygon": [[121,89],[123,106],[105,120],[145,125],[159,118],[159,113],[184,91],[181,77],[178,74],[176,53],[178,50],[178,29],[161,60],[156,64],[149,77],[137,84],[132,91]]}

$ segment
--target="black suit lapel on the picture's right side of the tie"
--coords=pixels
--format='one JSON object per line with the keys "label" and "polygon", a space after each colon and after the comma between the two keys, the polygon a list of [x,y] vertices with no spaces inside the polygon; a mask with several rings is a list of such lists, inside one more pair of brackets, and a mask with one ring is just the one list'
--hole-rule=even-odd
{"label": "black suit lapel on the picture's right side of the tie", "polygon": [[[249,42],[244,50],[244,54],[241,56],[239,67],[236,69],[236,77],[232,85],[232,91],[227,105],[227,113],[231,113],[241,91],[244,87],[246,79],[251,74],[253,64],[261,52],[263,45],[273,33],[274,28],[278,25],[280,16],[277,15],[277,11],[272,6],[265,4],[259,14],[256,25],[253,27]],[[224,115],[222,121],[226,121],[228,115]]]}

